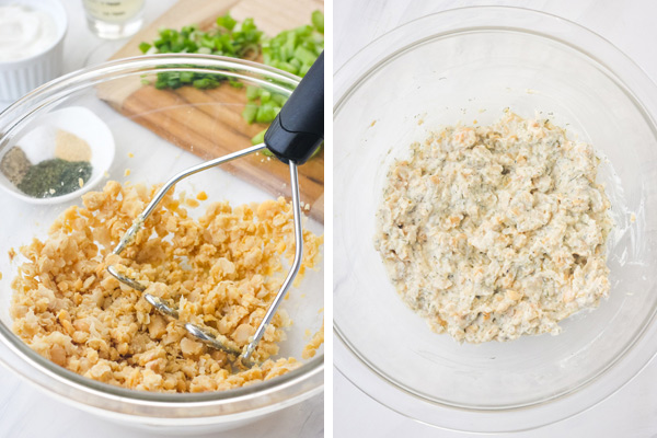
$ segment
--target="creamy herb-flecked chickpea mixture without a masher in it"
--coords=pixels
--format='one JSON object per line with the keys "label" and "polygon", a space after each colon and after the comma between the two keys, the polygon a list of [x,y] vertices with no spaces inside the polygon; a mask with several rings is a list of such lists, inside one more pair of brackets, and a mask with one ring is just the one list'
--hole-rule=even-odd
{"label": "creamy herb-flecked chickpea mixture without a masher in it", "polygon": [[560,333],[609,293],[593,147],[506,112],[447,127],[388,173],[376,249],[400,297],[459,342]]}

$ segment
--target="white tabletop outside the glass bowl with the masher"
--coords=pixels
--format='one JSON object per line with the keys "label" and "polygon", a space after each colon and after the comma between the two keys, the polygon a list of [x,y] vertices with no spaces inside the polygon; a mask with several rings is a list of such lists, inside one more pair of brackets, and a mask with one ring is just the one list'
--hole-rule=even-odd
{"label": "white tabletop outside the glass bowl with the masher", "polygon": [[[81,0],[60,0],[67,9],[69,30],[65,39],[65,72],[97,64],[120,48],[126,41],[105,42],[88,28]],[[9,0],[11,2],[11,0]],[[147,0],[146,22],[154,20],[175,0]],[[9,102],[0,102],[3,110]],[[322,437],[324,429],[323,394],[284,410],[221,437],[288,438]],[[0,438],[23,437],[158,437],[97,419],[21,380],[0,366]],[[191,436],[191,435],[185,435]]]}

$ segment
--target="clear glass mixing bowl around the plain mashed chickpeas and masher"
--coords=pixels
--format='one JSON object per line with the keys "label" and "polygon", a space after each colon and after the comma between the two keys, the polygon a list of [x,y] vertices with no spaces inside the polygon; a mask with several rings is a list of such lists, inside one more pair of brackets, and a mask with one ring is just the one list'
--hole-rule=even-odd
{"label": "clear glass mixing bowl around the plain mashed chickpeas and masher", "polygon": [[[82,107],[107,125],[116,149],[114,160],[105,163],[108,169],[103,182],[92,188],[101,189],[107,178],[150,185],[165,182],[175,173],[200,163],[204,158],[224,154],[226,149],[249,147],[251,137],[264,128],[262,125],[249,125],[242,119],[241,112],[246,103],[244,89],[224,83],[215,90],[186,87],[175,93],[159,91],[152,87],[152,80],[163,71],[219,73],[242,84],[285,96],[291,94],[299,81],[297,77],[263,65],[211,56],[157,55],[118,60],[59,78],[1,113],[0,155],[16,141],[20,143],[24,135],[38,128],[39,120],[50,120],[56,112],[61,116],[66,113],[61,112],[65,108],[76,107],[77,112],[72,114],[83,114],[84,111],[79,108]],[[149,81],[150,85],[145,84]],[[203,124],[199,125],[197,117],[203,118]],[[83,124],[84,120],[72,122]],[[67,119],[67,123],[70,122]],[[173,141],[186,146],[200,157],[174,146]],[[200,145],[206,147],[203,152],[194,150]],[[43,157],[47,158],[48,153],[51,154],[51,151],[44,151]],[[252,164],[247,171],[239,168],[238,162],[214,168],[181,182],[176,185],[176,193],[186,191],[187,194],[197,194],[205,191],[208,200],[194,209],[198,212],[205,210],[204,205],[212,200],[229,200],[237,206],[289,196],[286,165],[262,155],[245,160]],[[308,204],[306,212],[309,217],[304,227],[322,233],[323,153],[300,166],[300,173],[304,172],[304,166],[312,166],[308,170],[319,176],[312,186],[308,184],[310,180],[301,177],[302,200]],[[128,169],[129,172],[126,172]],[[239,176],[235,176],[238,172]],[[314,192],[311,193],[311,189]],[[183,430],[234,427],[322,391],[323,347],[314,358],[303,360],[302,367],[279,378],[223,392],[186,394],[148,393],[112,387],[46,360],[11,331],[11,281],[20,257],[12,262],[8,252],[11,247],[18,249],[30,243],[34,237],[44,237],[54,219],[65,208],[80,204],[80,197],[34,205],[9,192],[0,192],[0,201],[5,211],[0,217],[0,361],[50,394],[110,419],[152,427],[161,433],[180,434]],[[309,333],[322,326],[322,315],[319,313],[323,308],[321,264],[319,269],[307,272],[304,278],[291,289],[283,308],[293,324],[287,331],[287,339],[280,343],[279,356],[301,358],[301,351],[310,341]]]}

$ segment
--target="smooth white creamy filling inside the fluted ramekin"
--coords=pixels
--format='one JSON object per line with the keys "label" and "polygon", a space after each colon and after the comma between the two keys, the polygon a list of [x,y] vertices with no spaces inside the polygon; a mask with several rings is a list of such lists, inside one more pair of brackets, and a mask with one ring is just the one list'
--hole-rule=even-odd
{"label": "smooth white creamy filling inside the fluted ramekin", "polygon": [[57,23],[47,12],[20,4],[0,5],[0,61],[45,51],[57,39]]}

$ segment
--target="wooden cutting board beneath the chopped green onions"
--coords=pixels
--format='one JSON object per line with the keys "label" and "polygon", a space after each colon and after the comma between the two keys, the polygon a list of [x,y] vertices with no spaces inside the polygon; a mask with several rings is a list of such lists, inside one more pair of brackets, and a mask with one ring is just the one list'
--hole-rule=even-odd
{"label": "wooden cutting board beneath the chopped green onions", "polygon": [[[198,24],[214,25],[219,15],[230,11],[238,21],[253,18],[266,35],[310,23],[314,10],[323,10],[320,0],[181,0],[148,27],[135,35],[111,59],[141,55],[141,42],[158,38],[162,27],[181,28]],[[122,114],[152,130],[160,137],[204,159],[212,159],[251,146],[251,138],[266,125],[249,125],[242,118],[246,103],[245,90],[222,84],[214,90],[183,87],[157,90],[130,80],[113,81],[99,88],[99,96]],[[289,187],[289,169],[278,160],[261,154],[223,164],[245,181],[280,195]],[[310,214],[323,221],[324,152],[299,168],[301,200],[311,206]]]}

